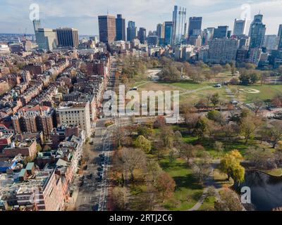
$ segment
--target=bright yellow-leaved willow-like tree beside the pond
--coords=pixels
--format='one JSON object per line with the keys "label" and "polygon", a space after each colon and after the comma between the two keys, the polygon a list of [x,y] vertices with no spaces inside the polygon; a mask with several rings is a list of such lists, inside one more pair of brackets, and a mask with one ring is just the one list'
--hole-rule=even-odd
{"label": "bright yellow-leaved willow-like tree beside the pond", "polygon": [[244,181],[245,169],[240,165],[243,160],[242,155],[238,150],[232,150],[226,153],[221,159],[219,170],[228,176],[228,180],[232,178],[235,182]]}

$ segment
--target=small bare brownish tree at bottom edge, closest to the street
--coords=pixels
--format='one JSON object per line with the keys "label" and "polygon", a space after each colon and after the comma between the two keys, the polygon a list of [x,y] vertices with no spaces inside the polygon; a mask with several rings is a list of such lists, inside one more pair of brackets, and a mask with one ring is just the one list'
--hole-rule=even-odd
{"label": "small bare brownish tree at bottom edge, closest to the street", "polygon": [[128,203],[126,188],[114,187],[111,198],[114,210],[126,210],[126,204]]}

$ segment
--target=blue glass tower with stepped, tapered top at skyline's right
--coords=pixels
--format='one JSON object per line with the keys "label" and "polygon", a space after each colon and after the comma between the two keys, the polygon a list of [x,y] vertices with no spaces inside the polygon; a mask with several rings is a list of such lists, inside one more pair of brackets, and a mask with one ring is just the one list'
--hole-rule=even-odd
{"label": "blue glass tower with stepped, tapered top at skyline's right", "polygon": [[250,25],[250,49],[262,48],[262,44],[264,43],[266,26],[262,23],[262,18],[262,14],[255,15]]}

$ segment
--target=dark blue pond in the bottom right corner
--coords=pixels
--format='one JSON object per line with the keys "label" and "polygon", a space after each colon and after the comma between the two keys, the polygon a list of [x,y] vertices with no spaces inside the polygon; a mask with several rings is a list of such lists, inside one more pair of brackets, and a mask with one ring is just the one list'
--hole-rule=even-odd
{"label": "dark blue pond in the bottom right corner", "polygon": [[251,201],[256,210],[270,211],[282,207],[282,177],[270,176],[258,171],[248,171],[240,187],[251,189]]}

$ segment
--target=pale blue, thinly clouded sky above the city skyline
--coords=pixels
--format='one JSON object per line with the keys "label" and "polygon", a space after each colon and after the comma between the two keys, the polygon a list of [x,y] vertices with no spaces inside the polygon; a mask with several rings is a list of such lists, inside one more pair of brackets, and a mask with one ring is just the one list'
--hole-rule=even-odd
{"label": "pale blue, thinly clouded sky above the city skyline", "polygon": [[[135,21],[137,27],[156,30],[157,23],[172,20],[173,6],[187,8],[187,17],[202,16],[202,29],[228,25],[233,30],[235,18],[250,20],[259,11],[264,15],[266,34],[277,34],[282,24],[282,0],[0,0],[0,33],[33,34],[31,8],[39,6],[42,27],[74,27],[79,34],[96,35],[98,15],[122,14],[125,23]],[[127,25],[126,25],[127,26]]]}

